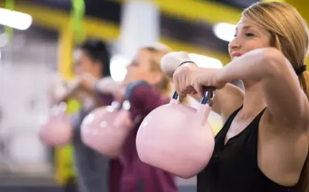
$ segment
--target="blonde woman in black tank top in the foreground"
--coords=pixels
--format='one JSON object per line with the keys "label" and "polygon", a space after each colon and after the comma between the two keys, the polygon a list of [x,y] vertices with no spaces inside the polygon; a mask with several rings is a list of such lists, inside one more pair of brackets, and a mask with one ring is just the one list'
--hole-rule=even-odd
{"label": "blonde woman in black tank top in the foreground", "polygon": [[[178,54],[179,95],[217,88],[214,110],[225,120],[198,192],[308,191],[308,27],[293,6],[259,2],[242,12],[222,69],[196,67]],[[171,71],[169,71],[171,73]],[[244,92],[229,82],[242,80]],[[195,95],[196,98],[198,96]]]}

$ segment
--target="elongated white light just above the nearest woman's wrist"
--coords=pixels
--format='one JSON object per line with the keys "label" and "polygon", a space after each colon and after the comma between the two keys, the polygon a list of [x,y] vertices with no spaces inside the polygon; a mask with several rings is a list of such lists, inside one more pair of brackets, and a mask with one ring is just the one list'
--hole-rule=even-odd
{"label": "elongated white light just above the nearest woman's wrist", "polygon": [[211,69],[220,69],[223,67],[222,62],[216,58],[198,55],[196,53],[189,53],[190,59],[195,62],[198,67],[205,67]]}

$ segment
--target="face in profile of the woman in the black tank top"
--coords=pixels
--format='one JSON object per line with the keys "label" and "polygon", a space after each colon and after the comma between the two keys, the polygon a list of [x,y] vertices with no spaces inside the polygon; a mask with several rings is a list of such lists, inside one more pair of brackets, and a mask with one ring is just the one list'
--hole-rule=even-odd
{"label": "face in profile of the woman in the black tank top", "polygon": [[244,53],[271,46],[271,33],[242,17],[236,26],[235,38],[229,43],[232,60]]}

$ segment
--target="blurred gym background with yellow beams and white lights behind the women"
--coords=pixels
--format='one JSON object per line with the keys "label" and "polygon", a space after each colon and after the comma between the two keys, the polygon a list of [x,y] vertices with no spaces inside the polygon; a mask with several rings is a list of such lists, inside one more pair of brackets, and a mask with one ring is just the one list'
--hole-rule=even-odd
{"label": "blurred gym background with yellow beams and white lights behind the women", "polygon": [[[241,11],[254,2],[0,0],[0,191],[56,192],[74,177],[71,147],[51,153],[37,132],[49,110],[48,84],[56,73],[73,77],[74,47],[82,40],[108,43],[117,81],[137,49],[155,43],[222,67]],[[286,2],[309,19],[308,1]],[[220,129],[222,121],[212,114],[211,124]],[[195,182],[179,179],[181,191],[194,191]]]}

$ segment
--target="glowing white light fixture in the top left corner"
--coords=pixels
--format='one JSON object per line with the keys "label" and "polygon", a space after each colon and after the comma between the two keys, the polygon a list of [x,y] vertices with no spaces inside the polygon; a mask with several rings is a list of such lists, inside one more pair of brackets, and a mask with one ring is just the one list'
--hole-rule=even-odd
{"label": "glowing white light fixture in the top left corner", "polygon": [[32,25],[32,16],[0,8],[0,24],[14,29],[25,30]]}

